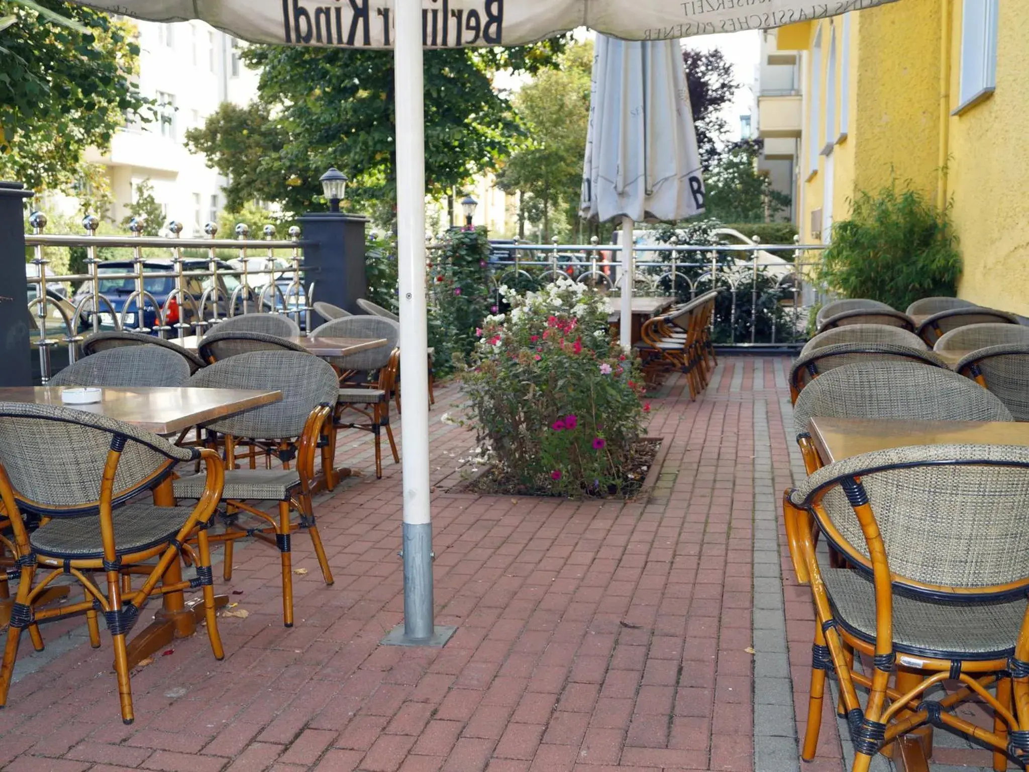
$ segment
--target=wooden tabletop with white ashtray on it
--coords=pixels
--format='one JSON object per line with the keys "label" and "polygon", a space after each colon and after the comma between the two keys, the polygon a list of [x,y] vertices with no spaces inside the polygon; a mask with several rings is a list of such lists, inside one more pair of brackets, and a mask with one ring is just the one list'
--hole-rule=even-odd
{"label": "wooden tabletop with white ashtray on it", "polygon": [[92,405],[65,405],[64,386],[0,389],[0,401],[58,405],[131,423],[155,434],[175,434],[190,426],[282,400],[281,391],[202,389],[193,386],[103,386]]}

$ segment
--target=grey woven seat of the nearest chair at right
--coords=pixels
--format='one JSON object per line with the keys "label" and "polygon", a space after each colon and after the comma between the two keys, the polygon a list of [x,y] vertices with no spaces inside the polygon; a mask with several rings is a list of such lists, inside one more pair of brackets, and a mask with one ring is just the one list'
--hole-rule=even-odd
{"label": "grey woven seat of the nearest chair at right", "polygon": [[[822,578],[837,621],[850,633],[874,643],[876,597],[872,582],[846,568],[823,568]],[[894,592],[894,647],[904,654],[942,659],[1006,657],[1015,651],[1025,612],[1025,598],[958,604]]]}

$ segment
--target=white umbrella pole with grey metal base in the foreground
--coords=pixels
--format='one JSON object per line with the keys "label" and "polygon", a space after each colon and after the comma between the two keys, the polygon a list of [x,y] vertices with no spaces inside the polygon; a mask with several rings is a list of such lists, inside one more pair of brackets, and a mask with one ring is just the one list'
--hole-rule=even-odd
{"label": "white umbrella pole with grey metal base in the foreground", "polygon": [[396,214],[403,373],[403,624],[383,643],[441,646],[454,628],[433,625],[432,519],[429,510],[429,375],[425,301],[425,91],[422,2],[397,0]]}

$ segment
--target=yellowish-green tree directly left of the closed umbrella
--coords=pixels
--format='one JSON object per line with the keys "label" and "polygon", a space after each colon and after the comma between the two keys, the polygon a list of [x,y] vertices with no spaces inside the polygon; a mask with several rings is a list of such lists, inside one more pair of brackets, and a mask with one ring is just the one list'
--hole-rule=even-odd
{"label": "yellowish-green tree directly left of the closed umbrella", "polygon": [[540,72],[514,97],[526,136],[497,184],[521,194],[520,220],[541,221],[543,240],[564,230],[554,227],[556,212],[573,230],[578,224],[592,68],[593,43],[578,43],[565,50],[558,68]]}

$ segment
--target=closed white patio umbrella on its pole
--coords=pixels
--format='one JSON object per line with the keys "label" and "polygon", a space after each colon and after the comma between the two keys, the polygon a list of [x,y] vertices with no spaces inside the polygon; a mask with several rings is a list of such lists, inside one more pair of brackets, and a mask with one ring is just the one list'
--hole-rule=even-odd
{"label": "closed white patio umbrella on its pole", "polygon": [[594,43],[582,215],[622,220],[623,348],[632,346],[633,223],[704,211],[704,183],[677,40]]}

